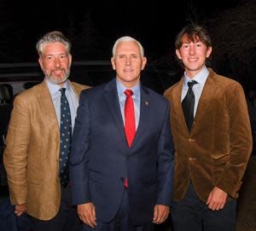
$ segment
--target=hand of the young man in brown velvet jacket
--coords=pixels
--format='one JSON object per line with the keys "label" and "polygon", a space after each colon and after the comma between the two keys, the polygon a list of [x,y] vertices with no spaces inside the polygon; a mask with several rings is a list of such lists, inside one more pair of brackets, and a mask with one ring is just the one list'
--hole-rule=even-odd
{"label": "hand of the young man in brown velvet jacket", "polygon": [[219,211],[224,208],[228,194],[222,189],[214,187],[207,199],[208,208],[212,211]]}

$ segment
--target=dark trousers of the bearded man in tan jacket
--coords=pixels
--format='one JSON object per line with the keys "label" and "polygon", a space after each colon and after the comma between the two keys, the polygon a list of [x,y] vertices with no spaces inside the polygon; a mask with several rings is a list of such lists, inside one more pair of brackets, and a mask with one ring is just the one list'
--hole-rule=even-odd
{"label": "dark trousers of the bearded man in tan jacket", "polygon": [[61,205],[57,215],[49,221],[32,217],[32,231],[81,231],[77,208],[72,206],[70,187],[61,186]]}

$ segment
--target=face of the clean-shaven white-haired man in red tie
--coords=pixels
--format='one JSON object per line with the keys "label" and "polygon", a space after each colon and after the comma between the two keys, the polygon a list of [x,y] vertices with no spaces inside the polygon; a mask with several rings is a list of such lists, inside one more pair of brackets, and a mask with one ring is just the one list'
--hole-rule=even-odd
{"label": "face of the clean-shaven white-haired man in red tie", "polygon": [[147,59],[142,57],[136,41],[119,42],[111,59],[118,80],[127,88],[131,88],[139,82],[146,62]]}

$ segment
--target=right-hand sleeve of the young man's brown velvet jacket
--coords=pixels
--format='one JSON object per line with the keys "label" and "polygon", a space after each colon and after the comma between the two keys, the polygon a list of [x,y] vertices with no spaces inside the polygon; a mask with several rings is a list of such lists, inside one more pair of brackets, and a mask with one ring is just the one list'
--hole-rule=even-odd
{"label": "right-hand sleeve of the young man's brown velvet jacket", "polygon": [[236,198],[241,178],[253,148],[247,101],[240,84],[230,86],[227,110],[230,118],[230,160],[218,179],[217,187]]}

